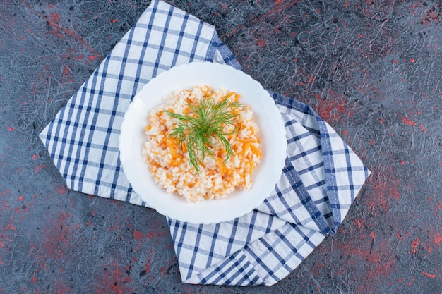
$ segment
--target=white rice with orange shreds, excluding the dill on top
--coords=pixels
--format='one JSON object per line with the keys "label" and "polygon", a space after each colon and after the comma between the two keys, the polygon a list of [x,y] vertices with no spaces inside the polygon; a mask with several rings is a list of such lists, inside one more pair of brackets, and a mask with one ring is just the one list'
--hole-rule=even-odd
{"label": "white rice with orange shreds, excluding the dill on top", "polygon": [[186,146],[180,145],[172,130],[177,119],[167,114],[189,114],[189,104],[200,104],[204,98],[222,102],[229,99],[239,102],[240,95],[225,89],[211,90],[208,86],[192,90],[177,90],[163,99],[164,104],[150,111],[145,127],[147,140],[143,146],[143,160],[149,164],[155,182],[167,192],[177,193],[187,202],[201,202],[227,197],[236,188],[250,190],[252,171],[261,159],[258,125],[248,106],[235,110],[234,125],[223,125],[232,147],[232,156],[226,160],[225,145],[210,137],[213,156],[201,159],[197,172],[190,164]]}

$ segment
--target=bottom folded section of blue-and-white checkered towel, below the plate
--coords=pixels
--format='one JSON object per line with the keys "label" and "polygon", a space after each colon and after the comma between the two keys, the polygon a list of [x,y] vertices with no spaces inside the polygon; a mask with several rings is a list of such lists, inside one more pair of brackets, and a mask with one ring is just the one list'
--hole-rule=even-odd
{"label": "bottom folded section of blue-and-white checkered towel, below the plate", "polygon": [[[265,221],[276,226],[259,227]],[[257,211],[227,223],[233,224],[232,230],[222,228],[225,223],[192,226],[169,219],[172,235],[177,236],[175,250],[184,283],[271,286],[285,278],[325,238],[321,232]],[[250,233],[241,232],[241,228],[251,226],[259,227],[261,233],[247,243],[244,238]],[[186,232],[180,233],[183,227]],[[195,235],[189,236],[189,231]]]}

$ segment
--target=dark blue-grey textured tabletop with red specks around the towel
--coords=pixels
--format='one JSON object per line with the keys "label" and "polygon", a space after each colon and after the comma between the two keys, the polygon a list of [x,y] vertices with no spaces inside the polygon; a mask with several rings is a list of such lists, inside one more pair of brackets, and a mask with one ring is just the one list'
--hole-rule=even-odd
{"label": "dark blue-grey textured tabletop with red specks around the towel", "polygon": [[0,1],[0,293],[442,293],[441,1],[173,1],[373,172],[270,288],[181,283],[166,220],[66,189],[37,135],[149,1]]}

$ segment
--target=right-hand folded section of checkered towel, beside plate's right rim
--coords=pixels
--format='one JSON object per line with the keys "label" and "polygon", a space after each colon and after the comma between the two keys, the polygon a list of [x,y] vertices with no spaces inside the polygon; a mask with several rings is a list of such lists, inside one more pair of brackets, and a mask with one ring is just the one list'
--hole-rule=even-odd
{"label": "right-hand folded section of checkered towel, beside plate's right rim", "polygon": [[274,193],[257,209],[333,234],[370,171],[311,106],[270,94],[285,119],[287,159]]}

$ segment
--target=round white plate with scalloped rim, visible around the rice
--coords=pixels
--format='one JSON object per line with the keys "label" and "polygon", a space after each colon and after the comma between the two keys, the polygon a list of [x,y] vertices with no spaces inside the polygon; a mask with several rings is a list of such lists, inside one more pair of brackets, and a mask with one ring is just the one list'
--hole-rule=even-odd
{"label": "round white plate with scalloped rim, visible around the rice", "polygon": [[[251,190],[235,190],[222,200],[187,203],[184,197],[169,194],[155,183],[148,164],[143,163],[141,149],[146,140],[144,128],[148,125],[150,109],[163,104],[162,97],[166,94],[198,85],[241,94],[239,102],[250,105],[253,120],[260,129],[262,157],[253,170]],[[258,207],[281,176],[287,148],[284,122],[270,94],[250,75],[232,66],[210,62],[175,66],[144,85],[124,115],[119,140],[123,171],[133,190],[149,207],[172,219],[205,224],[229,221]]]}

